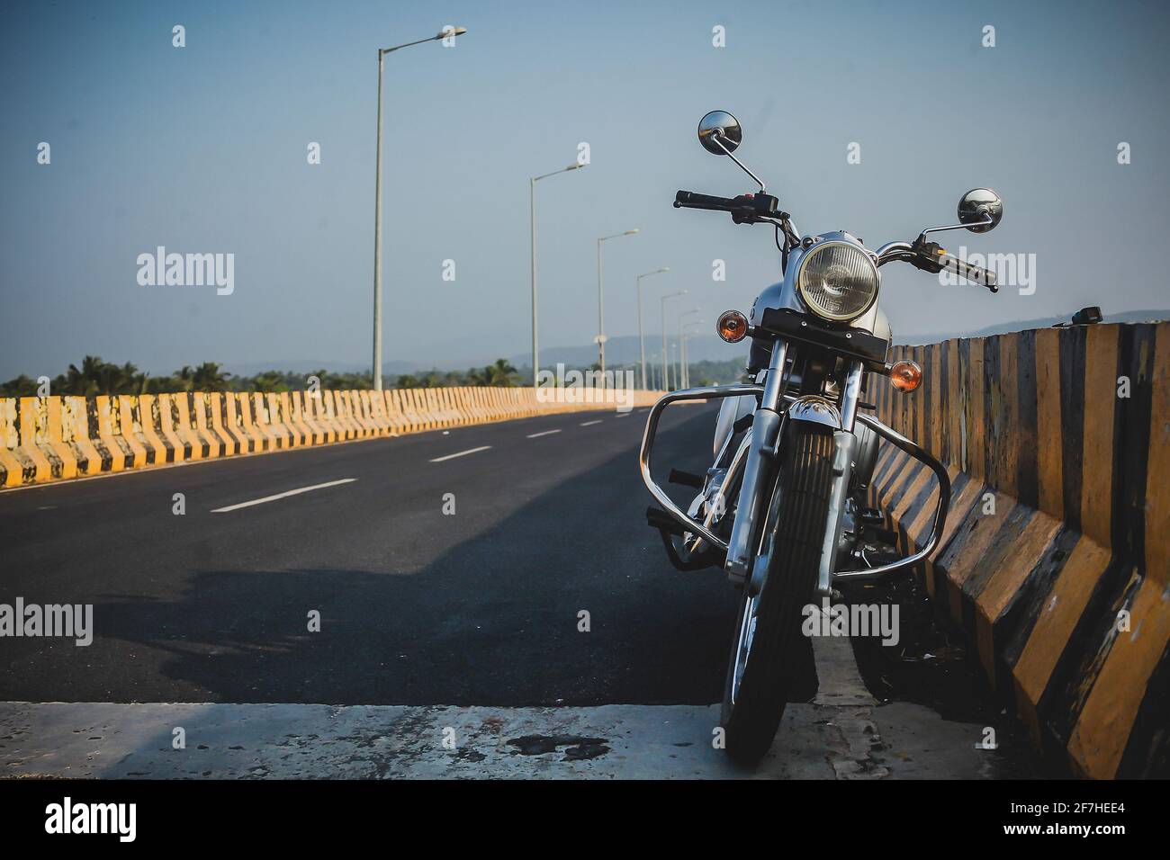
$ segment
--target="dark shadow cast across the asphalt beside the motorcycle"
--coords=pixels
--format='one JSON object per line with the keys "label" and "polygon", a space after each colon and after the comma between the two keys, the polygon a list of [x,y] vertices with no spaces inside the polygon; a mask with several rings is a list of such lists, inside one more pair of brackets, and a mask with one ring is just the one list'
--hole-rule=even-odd
{"label": "dark shadow cast across the asphalt beside the motorcycle", "polygon": [[[702,470],[714,411],[684,412],[660,436],[656,457],[667,468]],[[69,682],[53,670],[21,672],[0,682],[0,697],[493,707],[718,701],[735,594],[718,572],[669,566],[645,524],[648,500],[627,446],[414,575],[223,565],[185,575],[178,599],[103,596],[94,645],[57,654],[102,668],[74,668]],[[310,612],[319,613],[319,632],[308,629]],[[578,629],[583,612],[589,632]]]}

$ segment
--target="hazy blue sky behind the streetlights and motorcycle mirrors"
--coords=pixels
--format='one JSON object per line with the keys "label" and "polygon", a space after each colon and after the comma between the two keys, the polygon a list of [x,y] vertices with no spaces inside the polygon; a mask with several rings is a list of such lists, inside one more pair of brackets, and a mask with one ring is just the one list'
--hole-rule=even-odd
{"label": "hazy blue sky behind the streetlights and motorcycle mirrors", "polygon": [[[777,276],[768,228],[670,207],[677,188],[752,190],[695,140],[715,108],[804,232],[875,247],[949,221],[970,187],[1003,195],[994,233],[947,241],[1035,254],[1034,295],[889,266],[895,330],[1168,304],[1164,4],[23,4],[0,12],[0,378],[85,353],[153,372],[367,362],[376,49],[448,23],[469,30],[455,48],[386,59],[387,362],[528,349],[528,178],[580,142],[590,166],[538,185],[542,344],[592,338],[594,240],[632,227],[605,246],[607,333],[636,332],[634,276],[660,266],[649,309],[682,287],[709,321],[746,309]],[[159,245],[234,253],[235,291],[140,287]]]}

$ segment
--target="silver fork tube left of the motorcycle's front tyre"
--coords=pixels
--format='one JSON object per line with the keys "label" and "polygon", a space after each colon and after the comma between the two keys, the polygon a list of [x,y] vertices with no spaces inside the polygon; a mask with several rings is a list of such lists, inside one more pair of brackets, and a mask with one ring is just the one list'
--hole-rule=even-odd
{"label": "silver fork tube left of the motorcycle's front tyre", "polygon": [[735,522],[731,524],[731,538],[728,541],[728,556],[724,563],[728,577],[741,583],[751,571],[753,548],[758,544],[756,521],[759,517],[769,469],[768,455],[764,452],[771,452],[776,447],[776,439],[779,435],[780,415],[777,406],[784,391],[784,359],[787,351],[786,340],[772,344],[772,360],[768,365],[764,393],[751,421],[751,448],[748,450],[748,462],[743,469],[739,502],[736,507]]}

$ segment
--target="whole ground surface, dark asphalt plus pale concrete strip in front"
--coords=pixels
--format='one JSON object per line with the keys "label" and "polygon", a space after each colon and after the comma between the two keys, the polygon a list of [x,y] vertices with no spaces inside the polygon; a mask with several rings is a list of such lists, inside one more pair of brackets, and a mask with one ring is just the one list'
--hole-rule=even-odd
{"label": "whole ground surface, dark asphalt plus pale concrete strip in front", "polygon": [[[1010,727],[982,744],[993,703],[875,697],[847,639],[814,642],[820,693],[762,766],[730,768],[735,592],[646,527],[642,413],[0,494],[0,603],[94,606],[87,647],[0,639],[0,773],[1031,775]],[[656,462],[701,472],[713,421],[668,411]]]}

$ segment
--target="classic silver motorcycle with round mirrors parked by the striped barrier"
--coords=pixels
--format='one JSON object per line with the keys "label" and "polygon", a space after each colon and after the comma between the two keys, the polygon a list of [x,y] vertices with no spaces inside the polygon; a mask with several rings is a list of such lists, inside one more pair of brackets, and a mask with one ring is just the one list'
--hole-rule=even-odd
{"label": "classic silver motorcycle with round mirrors parked by the striped barrier", "polygon": [[[661,505],[647,510],[680,570],[722,567],[741,590],[724,684],[721,723],[728,754],[757,762],[771,747],[785,703],[812,649],[801,637],[805,607],[834,586],[907,571],[934,550],[950,503],[947,469],[911,440],[879,421],[863,400],[869,383],[918,387],[922,369],[888,363],[892,332],[878,307],[880,268],[894,261],[924,271],[948,269],[997,291],[993,273],[928,241],[932,233],[985,233],[1003,201],[975,188],[958,205],[959,223],[922,231],[913,242],[870,250],[846,232],[804,235],[779,200],[734,153],[743,139],[725,111],[707,113],[698,140],[735,161],[759,186],[734,198],[680,191],[676,208],[727,212],[735,223],[775,228],[783,280],[756,298],[749,315],[729,310],[716,329],[729,343],[750,338],[748,381],[694,387],[662,397],[651,410],[640,452],[642,480]],[[681,400],[721,399],[714,462],[704,475],[672,470],[673,483],[698,490],[687,510],[651,474],[662,411]],[[917,457],[938,481],[937,510],[925,544],[899,558],[872,543],[882,515],[866,508],[879,439]],[[893,558],[889,553],[893,552]]]}

